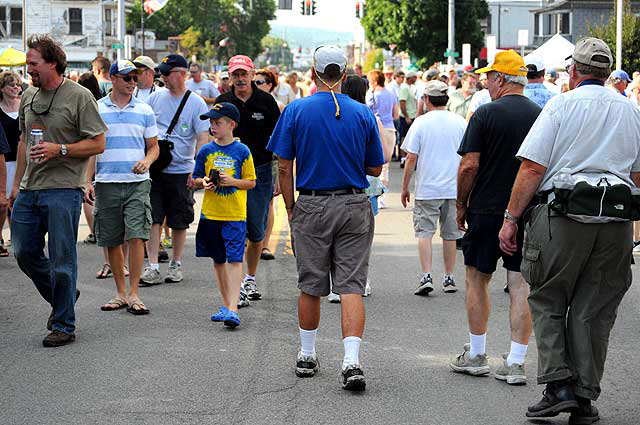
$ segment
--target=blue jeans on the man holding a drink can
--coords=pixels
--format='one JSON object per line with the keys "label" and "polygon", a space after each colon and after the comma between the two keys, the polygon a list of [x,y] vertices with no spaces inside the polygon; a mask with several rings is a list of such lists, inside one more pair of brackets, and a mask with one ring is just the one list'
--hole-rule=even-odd
{"label": "blue jeans on the man holding a drink can", "polygon": [[[11,214],[11,238],[18,266],[53,308],[53,330],[75,331],[78,256],[76,240],[82,207],[80,189],[20,191]],[[49,258],[44,255],[49,234]]]}

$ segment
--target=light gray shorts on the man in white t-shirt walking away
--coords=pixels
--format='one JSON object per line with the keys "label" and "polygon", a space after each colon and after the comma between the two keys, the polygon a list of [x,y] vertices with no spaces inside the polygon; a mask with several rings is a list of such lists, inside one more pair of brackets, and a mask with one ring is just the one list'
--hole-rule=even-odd
{"label": "light gray shorts on the man in white t-shirt walking away", "polygon": [[416,238],[431,239],[436,233],[440,219],[440,237],[445,241],[460,239],[463,233],[456,224],[455,199],[429,199],[415,201],[413,207],[413,229]]}

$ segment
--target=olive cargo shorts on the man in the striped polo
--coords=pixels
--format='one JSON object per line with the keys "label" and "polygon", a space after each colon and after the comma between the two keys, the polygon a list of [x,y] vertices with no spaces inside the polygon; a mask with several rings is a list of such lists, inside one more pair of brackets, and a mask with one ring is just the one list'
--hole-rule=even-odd
{"label": "olive cargo shorts on the man in the striped polo", "polygon": [[98,246],[113,247],[130,239],[149,239],[150,190],[151,180],[135,183],[96,183],[93,226]]}

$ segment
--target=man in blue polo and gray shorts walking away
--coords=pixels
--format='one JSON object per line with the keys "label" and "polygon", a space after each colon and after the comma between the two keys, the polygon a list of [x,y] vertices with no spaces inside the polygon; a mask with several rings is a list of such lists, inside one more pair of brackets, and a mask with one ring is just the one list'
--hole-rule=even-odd
{"label": "man in blue polo and gray shorts walking away", "polygon": [[[291,223],[298,268],[301,350],[296,375],[318,370],[315,339],[320,297],[333,291],[342,302],[344,360],[342,386],[365,389],[358,353],[364,331],[364,294],[373,239],[373,213],[366,176],[384,164],[380,134],[366,105],[341,94],[347,58],[334,46],[313,56],[311,76],[318,91],[289,104],[267,149],[278,155],[282,196]],[[293,161],[296,188],[293,194]]]}

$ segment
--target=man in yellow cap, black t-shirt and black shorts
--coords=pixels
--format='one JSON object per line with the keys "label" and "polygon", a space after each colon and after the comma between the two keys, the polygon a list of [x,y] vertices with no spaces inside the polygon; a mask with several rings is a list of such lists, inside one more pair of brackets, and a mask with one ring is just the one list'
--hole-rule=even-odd
{"label": "man in yellow cap, black t-shirt and black shorts", "polygon": [[470,344],[465,344],[463,353],[450,366],[456,372],[475,376],[489,373],[485,350],[488,286],[502,257],[511,297],[511,350],[495,377],[508,384],[525,384],[524,359],[531,335],[531,314],[527,304],[529,287],[520,274],[524,235],[519,235],[518,252],[510,256],[500,250],[498,233],[503,216],[508,214],[511,187],[520,167],[516,152],[541,109],[522,94],[527,67],[515,51],[496,54],[491,66],[476,72],[487,73],[493,102],[482,105],[471,117],[458,150],[462,160],[456,207],[458,227],[466,232],[462,249]]}

